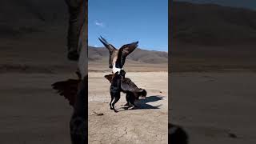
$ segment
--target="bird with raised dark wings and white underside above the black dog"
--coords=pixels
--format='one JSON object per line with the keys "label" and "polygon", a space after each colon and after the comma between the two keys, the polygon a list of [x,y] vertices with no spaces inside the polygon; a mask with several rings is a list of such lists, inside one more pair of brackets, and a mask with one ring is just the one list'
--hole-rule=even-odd
{"label": "bird with raised dark wings and white underside above the black dog", "polygon": [[118,50],[110,43],[106,42],[105,38],[100,37],[98,39],[110,52],[109,67],[113,70],[113,73],[122,70],[122,67],[126,62],[126,57],[138,46],[138,42],[132,42],[130,44],[123,45]]}

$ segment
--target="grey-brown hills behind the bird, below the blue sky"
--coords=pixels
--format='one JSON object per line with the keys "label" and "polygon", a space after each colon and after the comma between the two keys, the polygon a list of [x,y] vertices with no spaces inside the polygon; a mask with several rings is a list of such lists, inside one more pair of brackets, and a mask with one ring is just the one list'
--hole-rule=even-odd
{"label": "grey-brown hills behind the bird, below the blue sky", "polygon": [[[101,62],[108,61],[109,51],[106,48],[96,48],[93,46],[89,47],[89,61],[90,62]],[[128,57],[128,60],[134,62],[144,62],[144,63],[167,63],[168,62],[168,53],[162,51],[154,50],[142,50],[135,49]]]}

